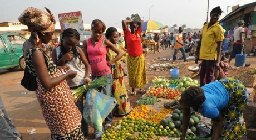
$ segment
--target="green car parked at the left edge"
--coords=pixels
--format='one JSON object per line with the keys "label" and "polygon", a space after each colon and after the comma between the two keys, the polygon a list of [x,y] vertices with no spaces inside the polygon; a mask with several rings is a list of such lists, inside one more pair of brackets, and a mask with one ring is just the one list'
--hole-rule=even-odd
{"label": "green car parked at the left edge", "polygon": [[0,70],[26,67],[23,44],[26,38],[17,33],[0,33]]}

